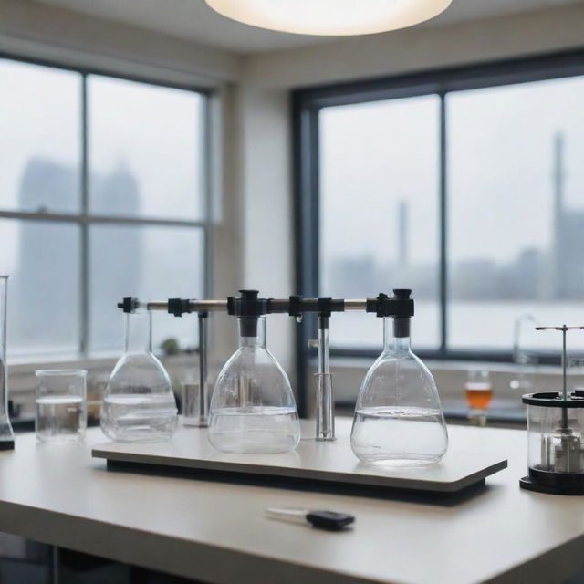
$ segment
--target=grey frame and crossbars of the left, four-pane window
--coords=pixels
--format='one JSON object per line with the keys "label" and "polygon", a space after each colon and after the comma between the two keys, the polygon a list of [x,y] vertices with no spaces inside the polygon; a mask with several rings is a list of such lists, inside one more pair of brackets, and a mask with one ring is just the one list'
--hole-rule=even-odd
{"label": "grey frame and crossbars of the left, four-pane window", "polygon": [[[52,213],[52,212],[26,212],[9,211],[0,205],[0,219],[16,219],[21,221],[42,221],[54,223],[76,224],[79,226],[79,292],[81,302],[79,308],[79,331],[78,331],[78,352],[76,355],[58,355],[57,361],[79,361],[90,362],[91,360],[102,361],[104,356],[101,353],[92,353],[89,350],[89,227],[93,224],[134,224],[134,225],[156,225],[166,227],[182,227],[200,229],[203,233],[203,294],[209,297],[211,293],[212,277],[212,164],[213,151],[212,136],[212,100],[215,95],[214,89],[209,89],[197,85],[185,83],[173,83],[155,77],[141,77],[126,75],[116,71],[102,68],[90,68],[62,64],[57,61],[42,58],[22,57],[10,52],[0,51],[0,59],[37,65],[46,68],[78,73],[80,76],[80,182],[79,182],[79,212],[76,214]],[[91,214],[89,211],[89,102],[88,102],[88,78],[91,75],[116,78],[124,81],[133,81],[155,87],[171,89],[182,89],[191,91],[203,97],[203,217],[200,220],[183,219],[156,219],[153,217],[132,217],[126,215]],[[194,195],[195,193],[193,193]],[[45,360],[43,357],[30,355],[19,358],[19,362],[35,363]]]}

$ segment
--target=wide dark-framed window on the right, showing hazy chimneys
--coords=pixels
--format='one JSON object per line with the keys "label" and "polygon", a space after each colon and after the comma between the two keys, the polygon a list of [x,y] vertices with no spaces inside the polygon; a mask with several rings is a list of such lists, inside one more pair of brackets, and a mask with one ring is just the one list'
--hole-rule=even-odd
{"label": "wide dark-framed window on the right, showing hazy chimneys", "polygon": [[[300,292],[412,287],[415,348],[438,358],[510,360],[524,315],[584,324],[582,103],[575,54],[298,90]],[[330,342],[376,354],[380,323],[338,315]]]}

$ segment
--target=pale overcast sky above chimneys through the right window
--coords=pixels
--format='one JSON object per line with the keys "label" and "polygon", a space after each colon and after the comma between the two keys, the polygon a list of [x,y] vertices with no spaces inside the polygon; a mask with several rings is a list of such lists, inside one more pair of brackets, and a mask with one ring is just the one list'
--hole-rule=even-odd
{"label": "pale overcast sky above chimneys through the right window", "polygon": [[[451,94],[449,238],[454,260],[508,261],[552,235],[553,141],[561,132],[566,204],[584,209],[584,78]],[[438,256],[435,96],[321,113],[325,255],[395,258],[397,202],[408,202],[413,260]]]}

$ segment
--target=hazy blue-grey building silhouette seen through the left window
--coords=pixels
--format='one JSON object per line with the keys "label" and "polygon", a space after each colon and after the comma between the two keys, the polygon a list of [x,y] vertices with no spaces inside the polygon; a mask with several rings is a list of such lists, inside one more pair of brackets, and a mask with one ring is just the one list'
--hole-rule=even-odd
{"label": "hazy blue-grey building silhouette seen through the left window", "polygon": [[[79,173],[56,162],[32,159],[26,164],[19,206],[26,211],[77,214]],[[91,197],[97,214],[136,214],[138,184],[120,169],[92,176]],[[131,225],[92,225],[89,229],[91,338],[99,348],[120,338],[120,320],[103,318],[123,295],[140,285],[141,231]],[[15,344],[27,352],[75,350],[80,328],[81,233],[77,223],[23,221],[11,312]],[[113,311],[110,311],[110,314]],[[42,323],[39,325],[39,323]],[[111,343],[109,343],[111,346]]]}

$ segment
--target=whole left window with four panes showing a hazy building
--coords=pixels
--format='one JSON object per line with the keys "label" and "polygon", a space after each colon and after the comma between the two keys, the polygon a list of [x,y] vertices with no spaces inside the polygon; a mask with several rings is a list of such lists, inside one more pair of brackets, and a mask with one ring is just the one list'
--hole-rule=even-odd
{"label": "whole left window with four panes showing a hazy building", "polygon": [[[120,349],[121,297],[203,297],[207,96],[0,58],[0,272],[13,356]],[[154,345],[196,343],[155,315]]]}

